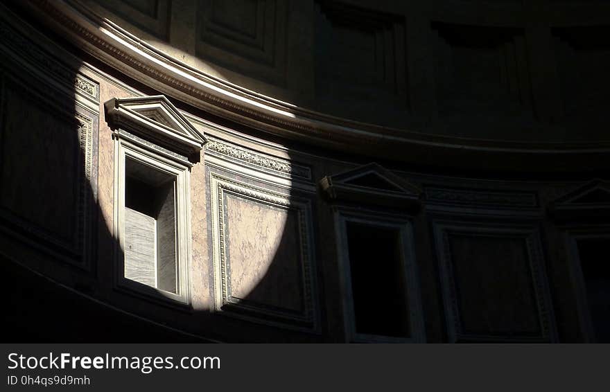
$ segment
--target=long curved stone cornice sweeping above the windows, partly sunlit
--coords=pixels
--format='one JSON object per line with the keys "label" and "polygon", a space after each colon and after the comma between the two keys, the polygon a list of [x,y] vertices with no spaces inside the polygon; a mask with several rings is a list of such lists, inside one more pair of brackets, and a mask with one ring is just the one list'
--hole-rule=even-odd
{"label": "long curved stone cornice sweeping above the windows, partly sunlit", "polygon": [[610,142],[541,143],[439,136],[303,109],[168,56],[73,0],[27,0],[37,19],[83,51],[168,96],[231,121],[324,148],[418,166],[566,172],[610,169]]}

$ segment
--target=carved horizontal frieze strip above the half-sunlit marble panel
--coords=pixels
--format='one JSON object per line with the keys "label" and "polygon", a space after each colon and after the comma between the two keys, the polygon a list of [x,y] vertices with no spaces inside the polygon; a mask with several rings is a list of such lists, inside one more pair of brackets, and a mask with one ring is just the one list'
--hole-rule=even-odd
{"label": "carved horizontal frieze strip above the half-sunlit marble panel", "polygon": [[276,175],[311,179],[311,170],[305,166],[299,166],[284,159],[273,158],[257,152],[252,152],[218,139],[210,139],[205,148],[206,151],[211,154],[218,154],[222,157],[244,163],[247,166],[254,166],[261,170],[272,172]]}

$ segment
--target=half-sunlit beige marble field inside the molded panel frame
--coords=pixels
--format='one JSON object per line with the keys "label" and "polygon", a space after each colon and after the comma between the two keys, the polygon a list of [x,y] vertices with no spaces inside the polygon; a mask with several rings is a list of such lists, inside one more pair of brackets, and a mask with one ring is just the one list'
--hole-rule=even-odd
{"label": "half-sunlit beige marble field inside the molded panel frame", "polygon": [[225,203],[231,295],[259,305],[301,310],[295,213],[233,195]]}

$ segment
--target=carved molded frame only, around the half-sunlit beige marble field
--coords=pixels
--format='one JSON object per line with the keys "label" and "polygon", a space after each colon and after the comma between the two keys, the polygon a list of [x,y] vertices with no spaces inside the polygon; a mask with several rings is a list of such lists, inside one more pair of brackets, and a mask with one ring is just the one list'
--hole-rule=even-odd
{"label": "carved molded frame only, around the half-sunlit beige marble field", "polygon": [[[239,181],[221,177],[210,172],[211,220],[214,248],[215,309],[232,317],[248,319],[283,328],[317,332],[318,310],[315,293],[313,265],[313,231],[311,223],[311,202],[290,195],[276,193]],[[297,214],[299,230],[299,260],[302,271],[304,309],[301,313],[281,308],[272,308],[261,303],[241,303],[232,301],[229,280],[230,260],[227,260],[225,222],[225,195],[242,197],[263,206],[283,208]]]}

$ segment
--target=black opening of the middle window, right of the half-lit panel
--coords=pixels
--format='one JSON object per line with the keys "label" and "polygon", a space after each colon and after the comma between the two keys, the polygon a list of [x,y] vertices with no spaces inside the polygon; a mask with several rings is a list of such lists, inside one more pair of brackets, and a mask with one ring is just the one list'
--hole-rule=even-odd
{"label": "black opening of the middle window, right of the half-lit panel", "polygon": [[409,337],[399,230],[347,222],[347,241],[356,332]]}

